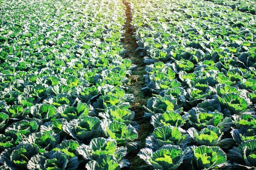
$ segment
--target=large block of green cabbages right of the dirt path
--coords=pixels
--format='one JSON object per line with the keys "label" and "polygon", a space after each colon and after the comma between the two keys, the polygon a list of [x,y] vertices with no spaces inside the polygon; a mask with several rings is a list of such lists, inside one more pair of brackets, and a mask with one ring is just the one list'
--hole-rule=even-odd
{"label": "large block of green cabbages right of the dirt path", "polygon": [[256,167],[256,25],[249,13],[195,0],[129,0],[147,64],[154,169]]}

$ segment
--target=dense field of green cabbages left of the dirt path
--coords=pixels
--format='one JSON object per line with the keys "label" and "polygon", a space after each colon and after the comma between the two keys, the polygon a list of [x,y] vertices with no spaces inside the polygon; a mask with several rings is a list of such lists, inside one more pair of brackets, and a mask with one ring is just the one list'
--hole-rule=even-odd
{"label": "dense field of green cabbages left of the dirt path", "polygon": [[0,169],[118,170],[138,124],[116,0],[0,1]]}

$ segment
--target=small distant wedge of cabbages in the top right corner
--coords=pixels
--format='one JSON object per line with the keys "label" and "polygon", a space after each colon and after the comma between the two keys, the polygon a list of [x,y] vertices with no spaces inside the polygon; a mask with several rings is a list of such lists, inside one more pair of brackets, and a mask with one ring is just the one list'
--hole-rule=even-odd
{"label": "small distant wedge of cabbages in the top right corner", "polygon": [[241,12],[256,15],[256,2],[254,0],[207,0],[217,4],[227,5]]}

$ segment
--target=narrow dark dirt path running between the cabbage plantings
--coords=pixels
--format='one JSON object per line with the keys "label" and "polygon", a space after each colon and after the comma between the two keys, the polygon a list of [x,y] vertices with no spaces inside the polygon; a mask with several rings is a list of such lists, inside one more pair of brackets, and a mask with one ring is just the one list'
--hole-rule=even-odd
{"label": "narrow dark dirt path running between the cabbage plantings", "polygon": [[[135,112],[134,121],[137,121],[139,124],[138,130],[138,140],[141,142],[141,148],[145,147],[145,138],[149,135],[149,133],[153,132],[153,126],[150,124],[150,119],[143,119],[144,108],[143,105],[146,105],[148,98],[150,96],[144,95],[141,91],[141,87],[145,86],[145,81],[143,75],[146,74],[145,64],[143,63],[143,56],[136,51],[138,48],[138,44],[136,39],[133,37],[133,33],[136,31],[132,28],[132,16],[131,16],[131,8],[129,2],[123,0],[123,3],[126,6],[126,23],[125,23],[125,34],[124,34],[124,48],[127,50],[125,57],[129,58],[132,61],[132,64],[138,66],[136,70],[133,70],[132,75],[129,76],[130,84],[127,93],[134,95],[134,102],[131,103],[131,110]],[[138,156],[138,150],[135,150],[127,155],[131,165],[129,168],[125,168],[125,170],[135,170],[140,166],[145,164]],[[141,169],[141,168],[140,168]]]}

